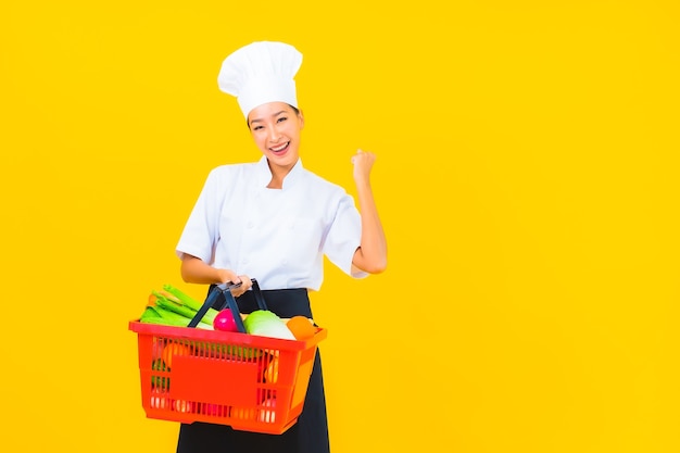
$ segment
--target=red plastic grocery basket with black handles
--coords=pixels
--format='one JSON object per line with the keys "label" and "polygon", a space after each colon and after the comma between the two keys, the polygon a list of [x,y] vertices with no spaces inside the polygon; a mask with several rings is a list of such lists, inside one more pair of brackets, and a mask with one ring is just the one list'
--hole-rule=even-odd
{"label": "red plastic grocery basket with black handles", "polygon": [[[260,309],[267,310],[254,279],[252,289]],[[226,285],[211,291],[189,326],[221,293],[237,332],[129,323],[138,334],[142,407],[148,418],[280,435],[302,412],[316,349],[327,331],[317,327],[304,341],[245,334]]]}

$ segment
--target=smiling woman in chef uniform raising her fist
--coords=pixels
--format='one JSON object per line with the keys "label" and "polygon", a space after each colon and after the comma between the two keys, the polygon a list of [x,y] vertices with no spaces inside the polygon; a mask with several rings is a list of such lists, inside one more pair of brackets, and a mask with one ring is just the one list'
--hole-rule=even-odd
{"label": "smiling woman in chef uniform raising her fist", "polygon": [[[326,255],[354,278],[387,265],[387,241],[370,188],[375,155],[351,158],[360,211],[344,189],[306,171],[300,159],[304,116],[293,80],[302,54],[282,42],[259,41],[230,54],[219,88],[237,97],[262,152],[256,163],[214,168],[177,244],[181,277],[191,284],[241,284],[232,290],[242,313],[256,310],[251,277],[280,317],[313,318],[307,292],[323,281]],[[216,382],[216,385],[219,385]],[[282,435],[222,425],[181,425],[178,453],[329,452],[320,355],[304,408]]]}

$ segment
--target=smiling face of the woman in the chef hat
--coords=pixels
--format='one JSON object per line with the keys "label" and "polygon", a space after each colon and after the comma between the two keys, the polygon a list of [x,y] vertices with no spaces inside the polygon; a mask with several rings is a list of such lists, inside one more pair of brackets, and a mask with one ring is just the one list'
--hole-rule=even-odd
{"label": "smiling face of the woman in the chef hat", "polygon": [[304,118],[285,102],[269,102],[248,114],[250,134],[269,165],[292,168],[298,162]]}

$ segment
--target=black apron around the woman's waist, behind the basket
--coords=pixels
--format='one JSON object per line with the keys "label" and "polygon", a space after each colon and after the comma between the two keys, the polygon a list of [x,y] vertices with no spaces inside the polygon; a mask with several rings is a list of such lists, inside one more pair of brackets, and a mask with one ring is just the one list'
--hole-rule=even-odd
{"label": "black apron around the woman's waist, behind the basket", "polygon": [[[211,287],[212,289],[212,287]],[[303,315],[310,318],[312,309],[306,289],[263,290],[267,309],[280,317]],[[217,301],[222,306],[224,301]],[[252,291],[237,299],[241,313],[257,310]],[[298,421],[282,435],[239,431],[225,425],[196,421],[181,424],[177,453],[329,453],[326,397],[318,349],[310,385]]]}

